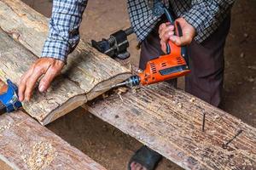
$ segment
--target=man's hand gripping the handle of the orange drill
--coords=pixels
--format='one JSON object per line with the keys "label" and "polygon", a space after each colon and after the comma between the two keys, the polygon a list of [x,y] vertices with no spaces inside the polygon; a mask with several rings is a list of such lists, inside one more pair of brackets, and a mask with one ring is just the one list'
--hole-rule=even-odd
{"label": "man's hand gripping the handle of the orange drill", "polygon": [[183,18],[178,18],[175,20],[179,23],[182,31],[183,37],[174,36],[174,26],[171,26],[170,23],[163,23],[159,27],[159,37],[160,37],[160,44],[162,50],[166,53],[166,42],[171,40],[177,46],[188,45],[192,42],[193,38],[195,37],[195,28],[189,23],[184,20]]}

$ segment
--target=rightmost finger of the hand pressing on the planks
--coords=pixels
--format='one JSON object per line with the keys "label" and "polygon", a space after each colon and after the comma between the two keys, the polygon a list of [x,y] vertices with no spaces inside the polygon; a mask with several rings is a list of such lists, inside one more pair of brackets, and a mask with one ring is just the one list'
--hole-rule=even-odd
{"label": "rightmost finger of the hand pressing on the planks", "polygon": [[39,82],[39,91],[41,93],[45,92],[48,88],[50,83],[54,80],[54,78],[58,75],[59,71],[57,71],[55,68],[50,67],[44,77]]}

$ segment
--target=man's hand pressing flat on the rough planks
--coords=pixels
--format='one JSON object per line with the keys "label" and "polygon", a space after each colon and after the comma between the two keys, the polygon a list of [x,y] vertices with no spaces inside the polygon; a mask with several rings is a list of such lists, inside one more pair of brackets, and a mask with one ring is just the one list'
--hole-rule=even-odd
{"label": "man's hand pressing flat on the rough planks", "polygon": [[38,79],[43,75],[44,77],[39,82],[38,89],[40,92],[45,92],[49,88],[50,82],[61,73],[63,66],[64,62],[58,59],[38,59],[20,79],[20,101],[28,101],[31,99],[32,91],[35,88]]}

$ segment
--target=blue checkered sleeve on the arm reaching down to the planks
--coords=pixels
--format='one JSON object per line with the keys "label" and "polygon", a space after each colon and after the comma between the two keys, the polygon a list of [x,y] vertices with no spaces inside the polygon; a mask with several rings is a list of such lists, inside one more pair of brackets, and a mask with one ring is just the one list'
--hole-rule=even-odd
{"label": "blue checkered sleeve on the arm reaching down to the planks", "polygon": [[49,20],[49,36],[42,57],[61,59],[66,63],[79,43],[79,26],[87,0],[54,0]]}

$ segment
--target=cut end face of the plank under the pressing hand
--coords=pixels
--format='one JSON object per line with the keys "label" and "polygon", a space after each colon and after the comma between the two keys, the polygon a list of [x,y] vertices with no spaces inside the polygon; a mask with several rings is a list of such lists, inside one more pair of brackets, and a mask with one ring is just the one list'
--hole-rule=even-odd
{"label": "cut end face of the plank under the pressing hand", "polygon": [[56,119],[61,116],[66,115],[68,112],[73,111],[84,103],[87,102],[87,98],[84,94],[76,95],[73,98],[70,98],[60,107],[56,108],[55,111],[51,111],[48,116],[46,116],[42,121],[39,121],[43,126],[54,122]]}

